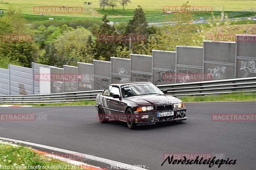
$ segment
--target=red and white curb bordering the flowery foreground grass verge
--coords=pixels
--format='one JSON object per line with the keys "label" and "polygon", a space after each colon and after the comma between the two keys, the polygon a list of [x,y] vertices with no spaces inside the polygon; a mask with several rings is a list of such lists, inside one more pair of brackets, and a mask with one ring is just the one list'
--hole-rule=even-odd
{"label": "red and white curb bordering the flowery foreground grass verge", "polygon": [[57,155],[54,155],[54,154],[51,154],[51,153],[38,151],[38,150],[36,150],[36,149],[32,149],[32,150],[33,150],[34,152],[39,153],[39,154],[42,154],[42,155],[44,155],[44,156],[47,156],[47,157],[50,157],[50,158],[53,158],[53,159],[59,159],[59,160],[61,160],[61,161],[68,162],[68,163],[73,164],[73,165],[77,165],[77,166],[79,166],[79,167],[82,168],[82,169],[105,170],[105,169],[102,169],[102,168],[97,167],[97,166],[88,165],[88,164],[85,164],[85,163],[83,163],[83,162],[79,162],[79,161],[72,160],[72,159],[67,159],[67,158],[60,157],[60,156],[57,156]]}

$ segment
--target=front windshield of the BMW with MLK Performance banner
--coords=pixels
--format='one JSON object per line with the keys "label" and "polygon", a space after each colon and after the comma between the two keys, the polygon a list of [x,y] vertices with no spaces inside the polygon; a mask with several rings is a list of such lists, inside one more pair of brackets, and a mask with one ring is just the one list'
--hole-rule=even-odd
{"label": "front windshield of the BMW with MLK Performance banner", "polygon": [[148,94],[164,94],[159,88],[152,83],[138,83],[121,86],[124,97],[148,95]]}

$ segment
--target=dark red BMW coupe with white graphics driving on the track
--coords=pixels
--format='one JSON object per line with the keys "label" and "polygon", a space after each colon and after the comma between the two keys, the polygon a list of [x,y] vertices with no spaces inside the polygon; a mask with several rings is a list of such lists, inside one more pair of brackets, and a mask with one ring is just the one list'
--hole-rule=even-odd
{"label": "dark red BMW coupe with white graphics driving on the track", "polygon": [[130,129],[136,125],[187,120],[187,108],[173,96],[166,95],[153,83],[128,82],[109,85],[97,95],[96,109],[101,123],[109,119],[127,122]]}

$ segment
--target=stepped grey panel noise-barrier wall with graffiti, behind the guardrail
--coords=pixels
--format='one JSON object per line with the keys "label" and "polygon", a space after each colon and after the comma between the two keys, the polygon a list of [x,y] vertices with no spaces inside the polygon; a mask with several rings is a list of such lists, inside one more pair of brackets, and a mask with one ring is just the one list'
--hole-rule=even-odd
{"label": "stepped grey panel noise-barrier wall with graffiti, behind the guardrail", "polygon": [[[204,41],[203,47],[177,46],[176,51],[152,50],[152,55],[78,62],[77,67],[32,63],[31,69],[9,64],[9,69],[0,69],[0,95],[102,90],[111,83],[128,81],[169,85],[256,77],[255,47],[256,35],[239,34],[236,42]],[[63,78],[40,82],[46,81],[45,74]]]}

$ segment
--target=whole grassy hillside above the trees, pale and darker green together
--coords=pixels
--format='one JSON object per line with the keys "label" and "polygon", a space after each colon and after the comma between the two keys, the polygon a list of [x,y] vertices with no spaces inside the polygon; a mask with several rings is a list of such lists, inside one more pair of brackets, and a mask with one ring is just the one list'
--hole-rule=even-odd
{"label": "whole grassy hillside above the trees, pale and darker green together", "polygon": [[[85,0],[86,1],[86,0]],[[113,11],[109,6],[105,7],[105,10],[100,9],[99,0],[90,0],[92,5],[85,5],[84,1],[79,0],[37,0],[37,1],[25,1],[25,0],[0,0],[0,10],[9,11],[15,10],[20,12],[24,18],[29,22],[48,22],[48,18],[54,18],[54,20],[77,20],[84,18],[91,18],[95,22],[100,22],[104,14],[108,15],[108,19],[113,22],[128,22],[132,19],[134,9],[140,5],[146,15],[148,23],[152,22],[166,22],[166,17],[170,18],[172,14],[163,13],[164,6],[180,6],[187,2],[184,1],[174,1],[174,0],[131,0],[132,3],[125,6],[125,11],[122,9],[122,5],[116,2],[117,6]],[[87,1],[86,1],[87,2]],[[191,6],[211,6],[212,10],[216,16],[220,15],[220,11],[226,11],[229,18],[239,18],[248,17],[256,15],[256,0],[191,0],[189,1]],[[66,6],[66,7],[79,7],[84,10],[81,13],[71,12],[71,13],[44,13],[44,16],[40,16],[40,12],[35,11],[38,6]],[[3,15],[3,14],[1,14]],[[0,15],[0,16],[1,16]],[[211,17],[210,12],[206,13],[195,13],[194,20],[199,20],[200,17],[207,19]],[[88,20],[89,21],[89,20]],[[51,21],[53,22],[53,21]],[[71,21],[70,21],[71,22]],[[87,22],[84,20],[84,22]],[[72,21],[73,23],[73,21]],[[58,23],[57,25],[59,25]],[[46,24],[48,25],[48,24]],[[83,24],[84,25],[84,24]]]}

